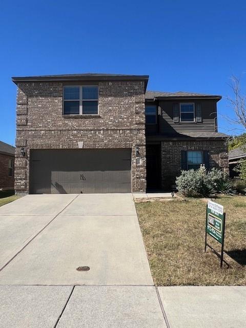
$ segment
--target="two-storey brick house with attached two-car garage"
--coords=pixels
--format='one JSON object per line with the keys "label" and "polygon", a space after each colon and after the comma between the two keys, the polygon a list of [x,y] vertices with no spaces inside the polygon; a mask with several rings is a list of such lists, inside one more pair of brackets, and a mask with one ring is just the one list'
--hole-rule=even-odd
{"label": "two-storey brick house with attached two-car garage", "polygon": [[181,169],[228,171],[217,95],[146,91],[148,75],[13,77],[15,190],[169,190]]}

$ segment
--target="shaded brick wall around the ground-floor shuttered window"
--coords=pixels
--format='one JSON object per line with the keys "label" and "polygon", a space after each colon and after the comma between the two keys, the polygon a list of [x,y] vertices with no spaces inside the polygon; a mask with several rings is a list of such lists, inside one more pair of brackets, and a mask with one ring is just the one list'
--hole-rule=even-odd
{"label": "shaded brick wall around the ground-floor shuttered window", "polygon": [[181,150],[209,151],[209,167],[229,173],[228,147],[224,140],[161,141],[161,187],[171,190],[181,170]]}

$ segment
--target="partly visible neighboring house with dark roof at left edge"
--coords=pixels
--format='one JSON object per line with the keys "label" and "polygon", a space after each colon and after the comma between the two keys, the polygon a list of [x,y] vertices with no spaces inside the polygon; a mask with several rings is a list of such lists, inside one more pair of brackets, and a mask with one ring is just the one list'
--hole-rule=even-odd
{"label": "partly visible neighboring house with dark roof at left edge", "polygon": [[14,189],[15,147],[0,141],[0,191]]}

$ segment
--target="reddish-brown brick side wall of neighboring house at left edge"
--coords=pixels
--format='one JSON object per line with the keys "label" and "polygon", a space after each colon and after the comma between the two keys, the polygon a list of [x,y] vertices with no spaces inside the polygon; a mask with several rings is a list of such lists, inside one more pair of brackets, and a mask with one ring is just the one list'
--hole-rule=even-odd
{"label": "reddish-brown brick side wall of neighboring house at left edge", "polygon": [[14,172],[9,176],[9,159],[13,156],[0,154],[0,190],[14,189]]}

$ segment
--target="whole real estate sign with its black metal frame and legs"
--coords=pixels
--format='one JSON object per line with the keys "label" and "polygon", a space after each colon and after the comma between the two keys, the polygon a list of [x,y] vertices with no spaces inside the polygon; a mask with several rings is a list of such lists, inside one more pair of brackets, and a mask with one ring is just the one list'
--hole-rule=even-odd
{"label": "whole real estate sign with its black metal frame and legs", "polygon": [[[225,223],[226,213],[223,211],[223,206],[209,200],[206,212],[205,252],[208,246],[220,258],[220,268],[222,268],[223,264]],[[207,243],[207,234],[216,239],[221,244],[220,254]]]}

